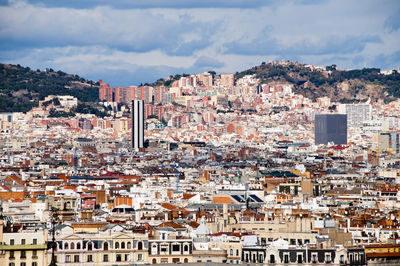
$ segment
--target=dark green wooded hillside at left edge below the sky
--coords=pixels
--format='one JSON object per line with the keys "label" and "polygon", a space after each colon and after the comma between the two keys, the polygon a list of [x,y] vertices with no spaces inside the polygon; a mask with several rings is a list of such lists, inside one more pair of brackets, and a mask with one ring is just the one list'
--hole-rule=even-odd
{"label": "dark green wooded hillside at left edge below the sky", "polygon": [[0,64],[0,112],[26,112],[48,95],[72,95],[83,102],[97,101],[98,84],[52,69],[31,70]]}

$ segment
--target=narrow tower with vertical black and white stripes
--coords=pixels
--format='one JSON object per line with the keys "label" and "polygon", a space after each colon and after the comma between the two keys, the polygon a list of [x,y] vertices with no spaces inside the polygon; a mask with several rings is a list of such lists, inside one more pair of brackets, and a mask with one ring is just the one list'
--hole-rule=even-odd
{"label": "narrow tower with vertical black and white stripes", "polygon": [[132,147],[138,151],[144,142],[144,102],[132,101]]}

